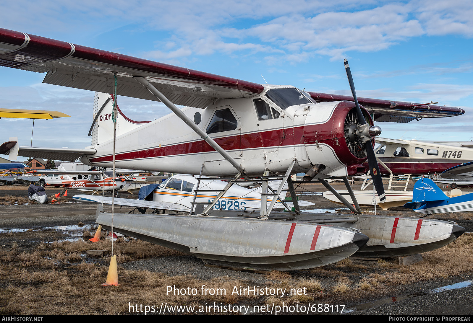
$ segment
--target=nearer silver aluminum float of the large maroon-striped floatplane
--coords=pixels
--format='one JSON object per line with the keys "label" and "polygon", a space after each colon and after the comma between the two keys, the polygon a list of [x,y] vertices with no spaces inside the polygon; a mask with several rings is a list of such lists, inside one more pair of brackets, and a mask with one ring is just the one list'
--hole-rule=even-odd
{"label": "nearer silver aluminum float of the large maroon-striped floatplane", "polygon": [[[111,228],[110,213],[97,223]],[[215,216],[114,214],[114,230],[201,258],[249,270],[295,270],[338,262],[368,242],[356,229],[323,224]]]}

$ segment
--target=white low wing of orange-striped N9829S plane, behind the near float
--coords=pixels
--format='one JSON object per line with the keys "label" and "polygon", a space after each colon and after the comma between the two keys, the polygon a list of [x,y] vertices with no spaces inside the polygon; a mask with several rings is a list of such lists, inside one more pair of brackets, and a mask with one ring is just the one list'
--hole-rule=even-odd
{"label": "white low wing of orange-striped N9829S plane, behind the near float", "polygon": [[[107,205],[112,204],[112,198],[109,196],[92,196],[92,195],[86,195],[86,194],[79,194],[79,195],[72,196],[72,198],[79,202],[107,204]],[[169,210],[169,211],[177,211],[177,212],[191,211],[188,207],[182,204],[134,200],[131,198],[115,197],[114,204],[121,205],[121,206],[140,207],[144,209],[154,209],[154,210]]]}

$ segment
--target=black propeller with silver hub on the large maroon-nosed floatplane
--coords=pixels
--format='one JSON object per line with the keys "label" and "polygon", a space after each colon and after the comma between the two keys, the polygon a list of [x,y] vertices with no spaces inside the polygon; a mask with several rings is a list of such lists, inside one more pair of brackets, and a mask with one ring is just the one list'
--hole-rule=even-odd
{"label": "black propeller with silver hub on the large maroon-nosed floatplane", "polygon": [[355,101],[356,113],[357,113],[358,121],[359,121],[359,124],[357,125],[358,129],[356,131],[356,134],[357,136],[360,137],[361,142],[363,143],[364,148],[366,150],[371,178],[373,178],[373,183],[375,185],[376,193],[378,194],[379,201],[383,203],[385,202],[385,199],[386,199],[385,191],[383,187],[383,180],[381,178],[381,173],[379,171],[378,162],[376,161],[376,155],[373,149],[373,144],[371,143],[373,136],[377,136],[380,134],[381,128],[376,127],[376,126],[370,127],[365,117],[363,116],[363,112],[361,111],[361,108],[359,107],[359,104],[358,104],[358,99],[355,92],[355,85],[353,84],[353,77],[351,77],[351,71],[350,71],[350,67],[348,66],[347,59],[344,60],[344,64],[345,64],[345,71],[347,72],[348,82],[350,83],[351,94],[353,94],[353,99]]}

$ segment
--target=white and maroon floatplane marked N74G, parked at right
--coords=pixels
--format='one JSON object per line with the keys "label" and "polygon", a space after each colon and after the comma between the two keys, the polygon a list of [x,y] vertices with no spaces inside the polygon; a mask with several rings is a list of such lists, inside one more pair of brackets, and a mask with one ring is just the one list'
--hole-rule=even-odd
{"label": "white and maroon floatplane marked N74G, parked at right", "polygon": [[[358,203],[362,206],[377,204],[382,209],[403,206],[412,201],[412,186],[410,180],[415,176],[440,175],[443,171],[460,163],[473,161],[473,143],[471,142],[437,142],[403,139],[376,138],[378,146],[375,149],[379,169],[385,176],[389,176],[388,188],[385,191],[385,202],[380,202],[376,191],[371,188],[372,181],[365,176],[360,190],[353,191]],[[365,165],[367,166],[367,165]],[[457,186],[458,178],[448,178],[444,174],[437,177],[438,183]],[[470,180],[472,178],[469,178]],[[408,189],[410,188],[410,189]],[[339,191],[350,203],[348,191]],[[338,204],[342,202],[332,192],[324,192],[324,198]]]}

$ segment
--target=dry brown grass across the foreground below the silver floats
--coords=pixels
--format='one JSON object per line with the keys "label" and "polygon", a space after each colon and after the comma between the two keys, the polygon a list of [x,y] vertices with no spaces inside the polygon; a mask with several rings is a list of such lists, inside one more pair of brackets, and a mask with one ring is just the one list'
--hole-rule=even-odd
{"label": "dry brown grass across the foreground below the silver floats", "polygon": [[[39,243],[33,250],[24,250],[13,242],[0,249],[0,312],[3,314],[126,314],[128,303],[158,305],[219,304],[307,304],[314,300],[323,303],[340,299],[357,299],[360,295],[384,293],[388,286],[405,285],[436,277],[473,272],[473,235],[464,234],[454,243],[423,254],[423,261],[400,266],[394,261],[374,263],[375,273],[352,270],[358,263],[347,260],[337,264],[304,271],[299,277],[289,272],[273,271],[262,276],[260,288],[286,289],[284,297],[232,294],[235,287],[244,289],[254,283],[219,277],[200,280],[193,276],[167,276],[160,272],[131,271],[118,267],[118,287],[104,288],[108,265],[92,263],[81,256],[88,249],[110,250],[110,241],[55,241]],[[150,243],[118,239],[114,253],[120,262],[146,257],[181,255],[181,253]],[[105,260],[108,264],[108,261]],[[366,267],[366,266],[362,266]],[[343,271],[343,268],[351,268]],[[340,270],[339,270],[340,269]],[[213,290],[201,295],[201,286]],[[195,288],[194,296],[167,294],[167,286],[176,289]],[[225,293],[215,291],[225,290]],[[304,289],[300,295],[289,295],[290,289]]]}

